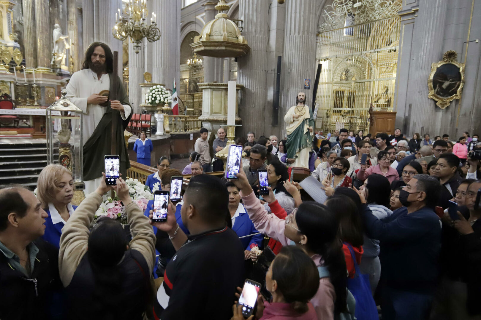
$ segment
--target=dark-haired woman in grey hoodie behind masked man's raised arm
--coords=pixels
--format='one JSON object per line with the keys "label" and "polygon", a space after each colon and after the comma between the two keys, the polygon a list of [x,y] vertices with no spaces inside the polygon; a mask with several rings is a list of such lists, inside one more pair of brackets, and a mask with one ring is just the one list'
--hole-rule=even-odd
{"label": "dark-haired woman in grey hoodie behind masked man's raised arm", "polygon": [[[366,203],[372,214],[378,219],[383,219],[392,214],[389,208],[391,186],[386,177],[378,174],[370,175],[360,188],[361,193],[366,198]],[[381,275],[381,262],[379,261],[379,241],[372,239],[364,234],[364,254],[361,264],[361,272],[369,275],[371,292],[374,296],[376,287]]]}

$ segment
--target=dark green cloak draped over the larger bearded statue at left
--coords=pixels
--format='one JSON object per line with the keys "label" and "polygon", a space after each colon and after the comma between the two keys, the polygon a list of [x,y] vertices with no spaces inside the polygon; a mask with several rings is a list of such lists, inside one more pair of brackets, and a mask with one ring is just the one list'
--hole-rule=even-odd
{"label": "dark green cloak draped over the larger bearded statue at left", "polygon": [[[110,78],[110,92],[117,92],[116,100],[120,101],[123,105],[129,105],[127,91],[122,84],[122,80],[117,80],[117,88],[113,90],[112,73],[109,73]],[[118,76],[117,76],[118,77]],[[93,180],[102,176],[102,172],[105,172],[104,156],[111,154],[112,145],[112,112],[115,112],[118,117],[117,131],[115,132],[115,150],[120,158],[120,173],[122,178],[127,177],[127,169],[130,168],[130,161],[128,159],[127,146],[124,140],[124,130],[127,128],[127,124],[132,117],[132,112],[127,119],[122,119],[120,112],[110,107],[110,102],[106,107],[102,119],[95,127],[92,136],[85,142],[84,152],[84,180]]]}

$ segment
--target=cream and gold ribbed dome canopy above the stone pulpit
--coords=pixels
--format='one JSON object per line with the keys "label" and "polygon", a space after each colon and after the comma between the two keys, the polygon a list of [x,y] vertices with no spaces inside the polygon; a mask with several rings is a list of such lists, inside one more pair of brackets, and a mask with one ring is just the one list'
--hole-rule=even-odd
{"label": "cream and gold ribbed dome canopy above the stone pulpit", "polygon": [[204,25],[201,35],[195,36],[190,44],[195,53],[215,58],[235,58],[249,53],[251,48],[241,36],[239,27],[224,13],[229,7],[225,0],[219,0],[215,6],[219,13]]}

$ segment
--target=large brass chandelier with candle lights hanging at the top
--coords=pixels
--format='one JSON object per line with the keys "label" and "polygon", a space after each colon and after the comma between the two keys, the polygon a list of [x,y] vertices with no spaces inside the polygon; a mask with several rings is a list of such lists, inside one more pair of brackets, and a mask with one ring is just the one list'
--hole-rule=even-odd
{"label": "large brass chandelier with candle lights hanging at the top", "polygon": [[149,42],[160,39],[160,30],[157,28],[157,15],[152,12],[151,23],[145,23],[149,14],[146,0],[128,0],[123,14],[120,9],[115,13],[115,25],[112,34],[115,39],[125,40],[130,37],[130,42],[134,44],[135,53],[139,53],[140,44],[143,38]]}

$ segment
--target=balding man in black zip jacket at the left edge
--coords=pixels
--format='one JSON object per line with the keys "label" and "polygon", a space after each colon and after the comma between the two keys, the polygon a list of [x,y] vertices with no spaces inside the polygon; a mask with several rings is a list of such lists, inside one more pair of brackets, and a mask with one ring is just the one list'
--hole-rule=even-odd
{"label": "balding man in black zip jacket at the left edge", "polygon": [[62,319],[63,304],[52,300],[54,291],[61,288],[58,249],[37,239],[45,232],[47,216],[31,191],[0,190],[2,320]]}

